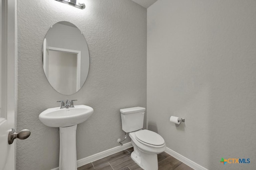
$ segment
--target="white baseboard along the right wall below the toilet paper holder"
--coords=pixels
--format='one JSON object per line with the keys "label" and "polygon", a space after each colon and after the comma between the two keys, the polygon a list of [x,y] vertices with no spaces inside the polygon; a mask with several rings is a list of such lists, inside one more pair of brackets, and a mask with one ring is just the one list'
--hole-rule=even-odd
{"label": "white baseboard along the right wall below the toilet paper holder", "polygon": [[192,160],[186,158],[185,156],[182,156],[181,154],[175,152],[174,150],[166,147],[165,150],[166,153],[170,154],[171,156],[173,156],[174,158],[180,160],[181,162],[183,162],[184,164],[190,166],[191,168],[195,169],[195,170],[207,170],[206,168],[204,168],[203,166],[197,164],[196,162],[193,162]]}

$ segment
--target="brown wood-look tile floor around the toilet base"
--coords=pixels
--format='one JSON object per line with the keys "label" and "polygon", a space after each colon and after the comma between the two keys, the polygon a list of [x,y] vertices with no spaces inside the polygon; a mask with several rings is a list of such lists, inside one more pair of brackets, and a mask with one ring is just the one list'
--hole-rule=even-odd
{"label": "brown wood-look tile floor around the toilet base", "polygon": [[[142,170],[131,158],[133,147],[96,160],[78,170]],[[158,170],[193,170],[166,152],[157,155]]]}

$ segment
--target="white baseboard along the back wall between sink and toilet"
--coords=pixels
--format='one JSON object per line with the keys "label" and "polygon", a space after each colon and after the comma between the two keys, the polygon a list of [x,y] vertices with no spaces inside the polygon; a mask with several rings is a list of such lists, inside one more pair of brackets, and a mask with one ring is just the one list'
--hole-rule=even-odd
{"label": "white baseboard along the back wall between sink and toilet", "polygon": [[[106,156],[112,155],[116,152],[120,152],[120,151],[128,149],[130,147],[132,147],[132,143],[128,142],[128,143],[125,143],[123,146],[114,147],[112,149],[104,150],[103,152],[93,154],[93,155],[88,156],[86,158],[82,158],[80,160],[77,160],[77,167],[86,165],[90,162],[94,162],[94,161],[99,160],[101,158],[105,158]],[[52,170],[59,170],[59,167],[54,168]]]}

